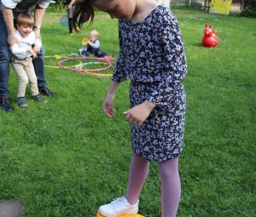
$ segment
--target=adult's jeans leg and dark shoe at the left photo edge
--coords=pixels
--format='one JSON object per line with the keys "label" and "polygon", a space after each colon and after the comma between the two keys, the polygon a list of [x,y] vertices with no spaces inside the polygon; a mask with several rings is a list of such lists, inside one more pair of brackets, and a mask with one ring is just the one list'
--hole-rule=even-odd
{"label": "adult's jeans leg and dark shoe at the left photo edge", "polygon": [[8,32],[3,20],[3,14],[0,11],[0,107],[4,111],[13,111],[13,107],[9,102],[9,64],[10,64],[10,50],[7,41]]}

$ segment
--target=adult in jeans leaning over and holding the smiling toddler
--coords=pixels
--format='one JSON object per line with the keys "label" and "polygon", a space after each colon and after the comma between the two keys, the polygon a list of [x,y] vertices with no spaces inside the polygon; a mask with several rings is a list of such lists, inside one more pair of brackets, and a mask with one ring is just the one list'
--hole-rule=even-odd
{"label": "adult in jeans leaning over and holding the smiling toddler", "polygon": [[[15,17],[20,13],[29,13],[35,7],[33,31],[37,38],[41,39],[40,26],[50,2],[51,0],[0,0],[0,107],[4,111],[13,111],[9,100],[8,83],[11,60],[9,46],[19,43],[15,36]],[[36,49],[36,52],[38,57],[33,60],[33,65],[38,77],[38,89],[41,94],[53,96],[44,79],[44,47]]]}

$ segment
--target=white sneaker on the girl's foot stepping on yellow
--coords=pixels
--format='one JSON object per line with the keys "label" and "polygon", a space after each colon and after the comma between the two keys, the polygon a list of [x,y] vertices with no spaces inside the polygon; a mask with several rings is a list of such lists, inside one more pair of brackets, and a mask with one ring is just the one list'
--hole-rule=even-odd
{"label": "white sneaker on the girl's foot stepping on yellow", "polygon": [[111,203],[102,205],[99,212],[106,217],[118,217],[119,214],[137,214],[138,201],[131,205],[125,197],[114,199]]}

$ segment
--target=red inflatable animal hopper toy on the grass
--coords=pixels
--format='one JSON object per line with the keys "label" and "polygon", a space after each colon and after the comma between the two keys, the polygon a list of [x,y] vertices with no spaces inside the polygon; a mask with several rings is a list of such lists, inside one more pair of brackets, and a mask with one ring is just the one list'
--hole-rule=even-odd
{"label": "red inflatable animal hopper toy on the grass", "polygon": [[212,31],[212,24],[210,24],[210,26],[206,24],[205,36],[202,38],[201,44],[202,46],[207,48],[214,48],[217,46],[218,44],[217,31],[216,30]]}

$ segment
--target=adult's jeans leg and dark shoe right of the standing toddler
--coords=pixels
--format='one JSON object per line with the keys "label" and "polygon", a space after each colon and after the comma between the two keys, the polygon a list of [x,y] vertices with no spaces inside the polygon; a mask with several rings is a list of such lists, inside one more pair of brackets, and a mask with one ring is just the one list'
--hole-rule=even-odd
{"label": "adult's jeans leg and dark shoe right of the standing toddler", "polygon": [[38,53],[38,57],[33,60],[33,66],[38,77],[38,90],[41,94],[54,96],[54,93],[47,87],[44,78],[44,53],[44,47],[42,47]]}

